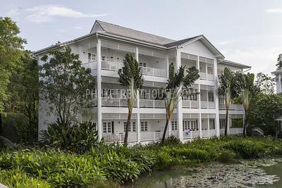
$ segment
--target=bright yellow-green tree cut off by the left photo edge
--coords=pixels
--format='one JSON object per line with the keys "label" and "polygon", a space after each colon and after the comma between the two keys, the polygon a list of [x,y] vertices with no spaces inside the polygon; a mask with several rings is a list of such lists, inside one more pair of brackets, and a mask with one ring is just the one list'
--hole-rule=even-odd
{"label": "bright yellow-green tree cut off by the left photo edge", "polygon": [[0,17],[0,132],[1,113],[8,99],[8,83],[13,69],[19,65],[25,39],[19,37],[20,28],[11,18]]}

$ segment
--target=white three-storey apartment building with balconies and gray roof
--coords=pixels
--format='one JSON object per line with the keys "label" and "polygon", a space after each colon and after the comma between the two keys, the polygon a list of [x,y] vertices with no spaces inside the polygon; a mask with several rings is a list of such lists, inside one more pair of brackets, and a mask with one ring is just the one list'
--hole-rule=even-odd
{"label": "white three-storey apartment building with balconies and gray roof", "polygon": [[[80,115],[80,120],[97,123],[99,138],[103,137],[107,142],[123,142],[125,134],[128,108],[126,99],[120,98],[124,87],[118,83],[118,69],[123,66],[125,54],[135,56],[143,67],[145,78],[133,108],[128,136],[131,143],[156,141],[163,134],[166,123],[164,101],[150,96],[154,89],[165,86],[169,63],[175,63],[176,68],[195,66],[200,71],[200,79],[192,85],[200,94],[183,97],[168,126],[167,136],[174,134],[183,142],[223,134],[226,111],[223,99],[217,94],[218,76],[225,67],[241,72],[250,68],[225,60],[204,35],[175,41],[99,20],[90,34],[41,49],[35,55],[43,56],[49,49],[61,46],[71,46],[73,52],[79,54],[83,66],[91,68],[97,80],[96,102],[90,109],[92,115]],[[46,106],[46,101],[39,101],[39,131],[56,119],[54,115],[47,115]],[[234,118],[244,118],[243,106],[233,104],[228,118],[228,132],[243,133],[243,127],[232,126]],[[187,130],[190,130],[189,134]]]}

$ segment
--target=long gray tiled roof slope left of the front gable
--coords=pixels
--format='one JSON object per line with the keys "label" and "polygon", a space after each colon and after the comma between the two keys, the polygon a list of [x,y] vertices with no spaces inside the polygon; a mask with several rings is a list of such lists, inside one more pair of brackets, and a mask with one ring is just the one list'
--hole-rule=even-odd
{"label": "long gray tiled roof slope left of the front gable", "polygon": [[152,35],[147,32],[140,32],[137,30],[130,29],[128,27],[122,27],[120,25],[115,25],[112,23],[105,23],[100,20],[97,20],[97,23],[99,23],[99,25],[102,27],[104,32],[114,34],[114,35],[119,35],[119,36],[131,38],[131,39],[137,39],[143,42],[149,42],[152,44],[160,44],[160,45],[175,42],[175,40],[173,39],[160,37],[158,35]]}

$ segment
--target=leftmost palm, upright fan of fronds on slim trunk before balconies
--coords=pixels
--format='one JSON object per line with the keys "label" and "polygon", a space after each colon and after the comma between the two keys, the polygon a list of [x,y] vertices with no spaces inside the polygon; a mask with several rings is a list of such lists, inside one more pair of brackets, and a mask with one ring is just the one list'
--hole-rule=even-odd
{"label": "leftmost palm, upright fan of fronds on slim trunk before balconies", "polygon": [[125,61],[123,61],[123,68],[118,70],[119,82],[126,89],[126,95],[128,98],[128,120],[125,127],[124,144],[128,143],[128,128],[130,124],[131,115],[133,113],[133,106],[135,101],[136,91],[142,88],[143,75],[142,67],[133,57],[132,54],[125,55]]}

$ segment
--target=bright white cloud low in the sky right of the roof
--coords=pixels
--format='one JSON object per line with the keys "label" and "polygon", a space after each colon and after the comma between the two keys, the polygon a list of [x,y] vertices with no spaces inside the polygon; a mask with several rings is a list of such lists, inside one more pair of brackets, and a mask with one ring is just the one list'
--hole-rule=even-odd
{"label": "bright white cloud low in the sky right of the roof", "polygon": [[251,65],[252,73],[266,73],[276,70],[275,64],[278,54],[281,53],[282,47],[274,47],[270,49],[247,49],[247,50],[222,50],[227,60]]}

